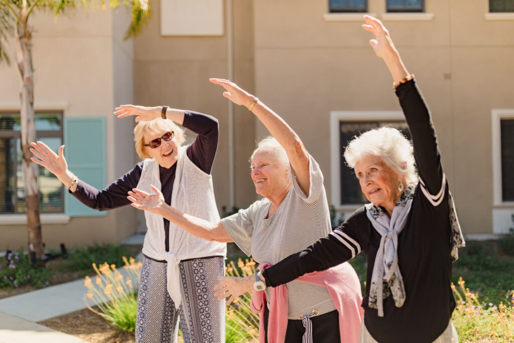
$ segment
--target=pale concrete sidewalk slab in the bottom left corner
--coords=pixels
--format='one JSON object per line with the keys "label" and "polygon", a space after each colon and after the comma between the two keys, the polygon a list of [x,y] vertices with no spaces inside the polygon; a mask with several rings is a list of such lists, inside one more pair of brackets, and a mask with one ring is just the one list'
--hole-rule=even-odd
{"label": "pale concrete sidewalk slab in the bottom left corner", "polygon": [[0,343],[87,343],[29,320],[0,313]]}

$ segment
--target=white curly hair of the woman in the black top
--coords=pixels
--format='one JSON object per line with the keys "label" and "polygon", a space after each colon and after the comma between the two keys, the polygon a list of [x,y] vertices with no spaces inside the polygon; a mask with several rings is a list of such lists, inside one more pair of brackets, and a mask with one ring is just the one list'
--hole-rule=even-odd
{"label": "white curly hair of the woman in the black top", "polygon": [[396,173],[405,175],[407,185],[417,183],[412,143],[399,130],[383,127],[366,131],[355,136],[344,151],[346,164],[352,169],[367,155],[380,157]]}

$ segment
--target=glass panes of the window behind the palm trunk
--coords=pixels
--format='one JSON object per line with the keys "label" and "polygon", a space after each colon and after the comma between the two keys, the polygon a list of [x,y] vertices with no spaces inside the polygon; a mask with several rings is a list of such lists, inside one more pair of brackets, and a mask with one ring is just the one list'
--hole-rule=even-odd
{"label": "glass panes of the window behind the palm trunk", "polygon": [[[63,142],[62,112],[39,112],[34,116],[36,137],[57,151]],[[19,112],[0,113],[0,214],[25,213],[22,176],[21,124]],[[62,213],[64,190],[59,179],[38,166],[41,213]]]}

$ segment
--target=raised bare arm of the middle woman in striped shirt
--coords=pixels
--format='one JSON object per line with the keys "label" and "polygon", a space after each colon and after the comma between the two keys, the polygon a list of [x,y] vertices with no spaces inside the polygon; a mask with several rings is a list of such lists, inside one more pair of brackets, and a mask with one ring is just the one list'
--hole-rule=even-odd
{"label": "raised bare arm of the middle woman in striped shirt", "polygon": [[271,111],[258,98],[244,91],[235,83],[225,79],[210,79],[210,81],[225,88],[224,97],[230,99],[236,105],[245,106],[259,118],[269,133],[285,149],[289,163],[297,176],[300,188],[305,195],[309,196],[309,155],[296,132],[278,114]]}

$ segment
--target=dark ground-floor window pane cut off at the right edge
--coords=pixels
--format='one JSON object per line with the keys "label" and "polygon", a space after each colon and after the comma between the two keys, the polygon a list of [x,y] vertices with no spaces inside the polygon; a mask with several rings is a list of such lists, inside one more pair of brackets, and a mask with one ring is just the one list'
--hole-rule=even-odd
{"label": "dark ground-floor window pane cut off at the right edge", "polygon": [[502,201],[514,202],[514,119],[500,120]]}

